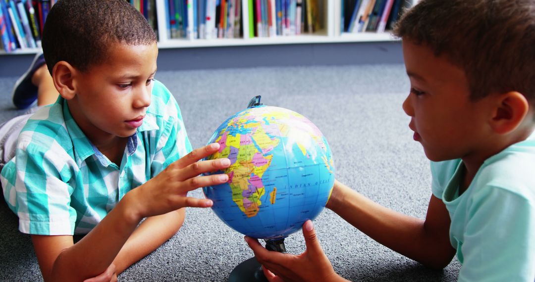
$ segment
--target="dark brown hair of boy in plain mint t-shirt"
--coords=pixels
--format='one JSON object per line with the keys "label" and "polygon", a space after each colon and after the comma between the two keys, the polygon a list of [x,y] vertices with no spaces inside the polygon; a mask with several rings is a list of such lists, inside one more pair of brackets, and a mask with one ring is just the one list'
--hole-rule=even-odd
{"label": "dark brown hair of boy in plain mint t-shirt", "polygon": [[422,0],[394,35],[464,69],[472,100],[518,91],[535,103],[533,0]]}

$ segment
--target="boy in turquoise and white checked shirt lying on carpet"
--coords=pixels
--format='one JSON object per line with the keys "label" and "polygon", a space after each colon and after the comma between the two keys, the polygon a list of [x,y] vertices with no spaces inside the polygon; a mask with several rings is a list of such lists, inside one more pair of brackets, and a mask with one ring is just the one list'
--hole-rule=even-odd
{"label": "boy in turquoise and white checked shirt lying on carpet", "polygon": [[[187,192],[226,182],[198,175],[230,161],[198,161],[219,145],[192,151],[177,101],[154,80],[154,31],[124,0],[58,1],[42,45],[59,97],[22,128],[2,169],[4,198],[44,280],[117,280],[178,231],[185,207],[212,205]],[[40,94],[13,98],[26,107]],[[74,234],[87,235],[74,244]]]}

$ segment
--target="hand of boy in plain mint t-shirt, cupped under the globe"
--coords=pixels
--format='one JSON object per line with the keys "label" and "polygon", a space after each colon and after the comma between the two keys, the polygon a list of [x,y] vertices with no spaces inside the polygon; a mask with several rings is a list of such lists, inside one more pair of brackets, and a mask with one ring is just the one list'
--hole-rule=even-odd
{"label": "hand of boy in plain mint t-shirt, cupped under the globe", "polygon": [[245,237],[255,257],[262,264],[269,281],[345,281],[338,276],[319,245],[312,221],[303,224],[307,250],[300,255],[272,252],[254,238]]}

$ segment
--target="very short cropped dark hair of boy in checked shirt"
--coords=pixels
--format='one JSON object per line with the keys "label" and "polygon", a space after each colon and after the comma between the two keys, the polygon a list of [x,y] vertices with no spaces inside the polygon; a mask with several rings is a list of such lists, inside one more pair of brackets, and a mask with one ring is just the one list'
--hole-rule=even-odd
{"label": "very short cropped dark hair of boy in checked shirt", "polygon": [[85,72],[103,62],[112,43],[156,43],[147,20],[125,0],[60,0],[43,28],[43,54],[50,74],[58,61]]}

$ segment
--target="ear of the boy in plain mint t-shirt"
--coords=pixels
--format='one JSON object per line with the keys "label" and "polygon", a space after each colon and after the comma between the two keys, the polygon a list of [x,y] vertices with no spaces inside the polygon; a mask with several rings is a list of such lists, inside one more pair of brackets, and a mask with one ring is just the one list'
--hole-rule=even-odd
{"label": "ear of the boy in plain mint t-shirt", "polygon": [[497,134],[507,134],[515,130],[529,111],[528,99],[516,91],[499,95],[496,102],[491,127]]}

